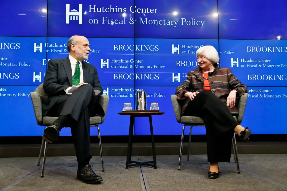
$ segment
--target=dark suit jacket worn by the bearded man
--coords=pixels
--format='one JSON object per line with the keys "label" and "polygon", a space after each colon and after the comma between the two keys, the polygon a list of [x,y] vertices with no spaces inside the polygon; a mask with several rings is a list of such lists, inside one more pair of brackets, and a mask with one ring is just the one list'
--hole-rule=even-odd
{"label": "dark suit jacket worn by the bearded man", "polygon": [[[93,89],[100,90],[97,95],[100,96],[103,93],[102,85],[100,83],[98,72],[96,67],[82,61],[84,83],[88,83],[93,86]],[[43,115],[46,116],[47,112],[57,102],[61,95],[65,95],[64,89],[72,86],[72,68],[69,56],[65,59],[51,59],[48,62],[48,69],[44,78],[44,92],[48,94],[48,101],[42,105]],[[97,109],[97,115],[103,117],[104,110],[100,106],[99,102],[95,106]]]}

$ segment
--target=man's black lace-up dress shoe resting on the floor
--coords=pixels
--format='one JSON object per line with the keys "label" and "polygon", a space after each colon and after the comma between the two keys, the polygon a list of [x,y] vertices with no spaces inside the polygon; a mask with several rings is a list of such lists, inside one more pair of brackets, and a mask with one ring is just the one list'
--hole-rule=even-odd
{"label": "man's black lace-up dress shoe resting on the floor", "polygon": [[103,181],[102,177],[96,175],[89,164],[77,170],[77,179],[87,184],[94,184]]}

